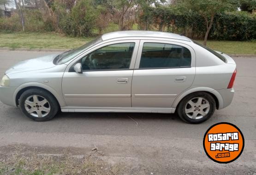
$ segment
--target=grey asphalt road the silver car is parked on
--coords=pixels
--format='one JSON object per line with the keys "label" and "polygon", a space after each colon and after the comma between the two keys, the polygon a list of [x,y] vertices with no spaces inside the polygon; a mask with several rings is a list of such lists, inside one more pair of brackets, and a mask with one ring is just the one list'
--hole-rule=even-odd
{"label": "grey asphalt road the silver car is parked on", "polygon": [[[0,51],[0,75],[20,60],[51,53]],[[131,168],[144,167],[146,174],[254,174],[256,58],[234,60],[238,73],[233,102],[202,124],[154,113],[59,113],[51,121],[34,122],[18,108],[0,102],[0,147],[22,144],[43,147],[48,153],[69,147],[76,154],[97,147],[108,160],[125,160]],[[237,125],[245,137],[244,152],[230,164],[213,162],[202,147],[204,133],[218,122]]]}

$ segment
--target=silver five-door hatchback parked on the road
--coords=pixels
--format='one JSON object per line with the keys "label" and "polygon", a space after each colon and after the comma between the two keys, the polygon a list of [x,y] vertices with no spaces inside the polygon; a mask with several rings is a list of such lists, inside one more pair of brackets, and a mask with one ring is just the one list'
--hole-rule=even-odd
{"label": "silver five-door hatchback parked on the road", "polygon": [[35,121],[62,112],[175,113],[188,123],[227,107],[236,63],[185,36],[120,31],[60,55],[19,62],[0,101]]}

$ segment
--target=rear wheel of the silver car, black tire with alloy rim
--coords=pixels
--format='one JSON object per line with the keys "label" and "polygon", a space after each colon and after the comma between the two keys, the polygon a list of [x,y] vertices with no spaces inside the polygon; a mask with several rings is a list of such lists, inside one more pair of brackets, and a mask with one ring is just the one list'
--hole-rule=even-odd
{"label": "rear wheel of the silver car, black tire with alloy rim", "polygon": [[216,103],[207,92],[195,92],[185,96],[179,103],[179,117],[187,123],[199,124],[212,117]]}

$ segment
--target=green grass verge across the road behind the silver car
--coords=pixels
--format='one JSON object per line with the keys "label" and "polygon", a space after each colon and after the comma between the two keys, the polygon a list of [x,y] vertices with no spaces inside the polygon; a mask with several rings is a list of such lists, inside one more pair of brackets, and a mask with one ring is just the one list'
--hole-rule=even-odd
{"label": "green grass verge across the road behind the silver car", "polygon": [[[116,28],[116,26],[113,26]],[[108,31],[109,32],[109,31]],[[93,38],[74,38],[56,33],[0,33],[0,47],[39,48],[39,49],[74,49]],[[199,42],[202,43],[201,40]],[[207,46],[224,53],[256,54],[256,41],[212,41]]]}

